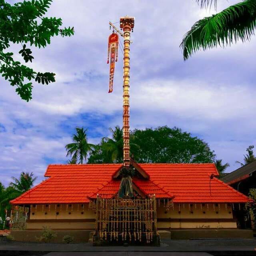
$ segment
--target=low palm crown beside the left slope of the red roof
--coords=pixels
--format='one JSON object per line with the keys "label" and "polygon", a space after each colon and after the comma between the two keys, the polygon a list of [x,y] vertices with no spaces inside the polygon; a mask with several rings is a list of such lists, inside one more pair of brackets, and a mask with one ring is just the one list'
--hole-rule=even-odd
{"label": "low palm crown beside the left slope of the red roof", "polygon": [[14,182],[10,182],[10,186],[15,188],[18,191],[25,192],[32,188],[34,181],[37,177],[34,177],[33,172],[22,172],[20,174],[20,177],[17,179],[15,177],[12,177]]}

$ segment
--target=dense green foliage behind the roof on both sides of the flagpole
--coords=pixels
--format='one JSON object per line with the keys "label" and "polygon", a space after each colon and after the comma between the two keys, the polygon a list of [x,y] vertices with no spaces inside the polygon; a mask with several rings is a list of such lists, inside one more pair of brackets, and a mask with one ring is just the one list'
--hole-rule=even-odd
{"label": "dense green foliage behind the roof on both sides of the flagpole", "polygon": [[[122,130],[113,139],[102,138],[90,153],[88,163],[121,163],[123,156]],[[106,145],[107,144],[107,145]],[[139,163],[208,163],[215,160],[214,151],[203,140],[192,137],[179,128],[167,126],[130,132],[130,151]]]}

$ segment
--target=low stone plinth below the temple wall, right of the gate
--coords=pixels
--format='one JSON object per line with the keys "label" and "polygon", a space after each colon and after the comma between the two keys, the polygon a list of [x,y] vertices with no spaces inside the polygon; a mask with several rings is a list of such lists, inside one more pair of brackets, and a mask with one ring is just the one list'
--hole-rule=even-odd
{"label": "low stone plinth below the temple wall, right of the gate", "polygon": [[[200,229],[200,230],[168,230],[171,239],[200,239],[200,238],[253,238],[252,230],[244,229]],[[163,234],[167,238],[167,234]],[[161,233],[160,233],[161,236]]]}

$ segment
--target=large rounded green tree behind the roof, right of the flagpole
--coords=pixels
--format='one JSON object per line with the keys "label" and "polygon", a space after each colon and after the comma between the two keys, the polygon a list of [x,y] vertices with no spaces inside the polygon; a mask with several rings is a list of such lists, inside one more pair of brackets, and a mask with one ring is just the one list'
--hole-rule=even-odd
{"label": "large rounded green tree behind the roof, right of the flagpole", "polygon": [[137,145],[131,153],[138,163],[209,163],[215,159],[206,142],[176,127],[133,130],[130,140]]}

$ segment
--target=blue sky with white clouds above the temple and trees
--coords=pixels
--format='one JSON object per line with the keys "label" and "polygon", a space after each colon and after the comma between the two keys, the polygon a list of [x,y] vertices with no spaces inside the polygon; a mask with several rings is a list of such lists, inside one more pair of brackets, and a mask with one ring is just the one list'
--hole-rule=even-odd
{"label": "blue sky with white clouds above the temple and trees", "polygon": [[[237,1],[219,1],[218,11]],[[131,45],[131,128],[168,125],[204,139],[218,159],[238,168],[246,147],[256,144],[256,38],[232,47],[198,52],[187,62],[179,44],[198,19],[193,0],[56,0],[48,16],[74,26],[71,38],[53,38],[45,49],[32,48],[32,68],[55,72],[56,83],[34,84],[24,102],[1,78],[0,180],[32,171],[37,182],[50,163],[66,163],[65,144],[76,126],[88,128],[89,141],[110,136],[122,124],[122,53],[116,64],[114,92],[108,94],[108,21],[135,16]],[[20,46],[12,46],[16,59]]]}

